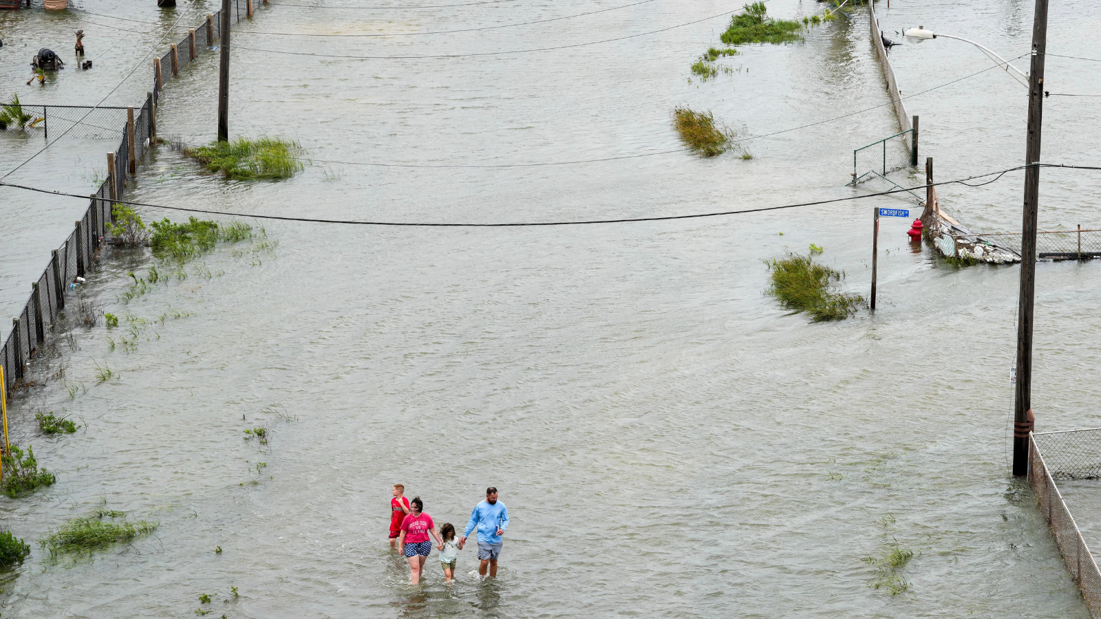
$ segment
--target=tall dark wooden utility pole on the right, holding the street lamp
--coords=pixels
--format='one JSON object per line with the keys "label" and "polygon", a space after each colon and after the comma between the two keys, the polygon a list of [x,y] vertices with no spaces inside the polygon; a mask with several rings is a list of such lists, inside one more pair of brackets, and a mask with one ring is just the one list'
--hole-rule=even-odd
{"label": "tall dark wooden utility pole on the right, holding the street lamp", "polygon": [[1017,307],[1017,382],[1013,398],[1013,475],[1028,475],[1032,413],[1032,332],[1036,293],[1036,216],[1039,210],[1040,124],[1044,111],[1044,54],[1047,0],[1036,0],[1032,67],[1028,72],[1028,145],[1025,149],[1025,207],[1021,226],[1021,301]]}

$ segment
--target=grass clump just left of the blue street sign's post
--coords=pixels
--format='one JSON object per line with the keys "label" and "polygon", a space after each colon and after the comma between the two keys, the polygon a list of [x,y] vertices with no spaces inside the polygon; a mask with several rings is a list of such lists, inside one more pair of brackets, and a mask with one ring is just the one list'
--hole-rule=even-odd
{"label": "grass clump just left of the blue street sign's post", "polygon": [[864,304],[859,294],[832,292],[831,283],[841,281],[844,274],[815,263],[809,256],[788,254],[765,263],[772,271],[768,292],[784,307],[807,312],[816,323],[847,318]]}

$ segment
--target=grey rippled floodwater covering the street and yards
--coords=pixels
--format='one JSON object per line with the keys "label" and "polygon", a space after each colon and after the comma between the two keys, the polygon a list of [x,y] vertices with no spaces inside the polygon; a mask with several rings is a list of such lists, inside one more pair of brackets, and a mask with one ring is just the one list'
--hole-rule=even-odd
{"label": "grey rippled floodwater covering the street and yards", "polygon": [[[814,28],[802,44],[745,46],[721,61],[733,73],[706,83],[688,67],[718,43],[723,18],[643,33],[730,9],[716,1],[656,0],[542,24],[397,36],[628,3],[370,11],[273,3],[235,37],[231,133],[297,140],[314,163],[284,182],[231,183],[162,148],[128,195],[246,214],[501,222],[742,210],[869,193],[846,186],[852,150],[897,126],[862,10]],[[31,90],[34,102],[98,100],[163,33],[140,22],[173,21],[157,17],[153,2],[139,11],[128,4],[89,10],[137,22],[41,9],[0,17],[3,78],[25,80],[11,66],[40,45],[28,33],[50,32],[66,50],[70,31],[84,28],[96,33],[86,37],[89,55],[108,39],[121,42],[92,72]],[[210,4],[179,9],[195,15],[183,23]],[[820,11],[809,0],[768,8],[776,17]],[[889,29],[958,26],[1003,55],[1028,47],[1025,2],[979,10],[896,1],[891,11],[881,17]],[[1099,15],[1084,1],[1053,7],[1053,53],[1058,41],[1078,52],[1068,55],[1101,57],[1089,35]],[[95,30],[101,26],[91,21],[155,34]],[[634,34],[643,35],[449,58],[257,51],[477,54]],[[986,66],[978,52],[949,45],[895,47],[904,95]],[[168,84],[162,135],[214,138],[216,63],[207,53]],[[1049,63],[1048,75],[1062,75],[1076,91],[1101,88],[1089,67],[1069,61],[1058,69]],[[108,100],[138,102],[145,76],[140,68]],[[1046,102],[1048,161],[1095,152],[1098,108],[1069,99]],[[753,140],[752,160],[669,153],[520,167],[366,165],[669,151],[679,146],[671,116],[680,104],[710,109],[746,135],[873,109]],[[907,106],[922,116],[922,156],[936,159],[938,178],[1023,160],[1024,89],[996,70]],[[35,150],[33,138],[0,139],[6,170]],[[80,166],[99,169],[95,153],[113,148],[61,141],[9,181],[90,191]],[[1043,225],[1090,224],[1095,174],[1042,176]],[[918,174],[895,177],[919,184]],[[1022,183],[1015,172],[940,195],[964,222],[1009,231],[1018,225]],[[4,261],[2,298],[14,315],[86,200],[2,192],[9,219],[41,207],[20,219],[33,231],[0,241],[13,257]],[[59,337],[58,355],[39,371],[53,374],[64,363],[64,381],[20,393],[9,410],[12,441],[33,445],[57,484],[0,507],[4,524],[28,541],[100,501],[160,526],[90,557],[52,560],[35,545],[4,586],[0,610],[28,618],[196,609],[230,618],[1086,618],[1031,491],[1007,473],[1017,269],[949,267],[908,246],[908,220],[884,220],[874,316],[811,324],[765,295],[763,260],[809,243],[846,272],[847,291],[865,293],[872,208],[905,205],[880,197],[537,228],[266,221],[273,249],[259,240],[219,247],[188,264],[186,279],[154,284],[129,303],[119,298],[128,272],[148,276],[155,262],[108,254],[84,294],[119,315],[120,327],[100,323]],[[1101,352],[1090,335],[1097,269],[1038,268],[1034,408],[1043,430],[1098,425],[1088,387]],[[123,346],[131,324],[137,336]],[[119,376],[99,382],[97,367]],[[41,436],[37,410],[83,427]],[[266,445],[242,432],[258,426],[270,431]],[[443,584],[435,555],[426,583],[408,586],[385,536],[395,482],[421,496],[437,522],[460,526],[487,486],[500,488],[512,519],[500,578],[478,582],[468,547],[454,587]],[[891,596],[871,586],[876,572],[863,560],[895,542],[915,556],[902,572],[908,590]],[[200,605],[203,594],[209,605]]]}

